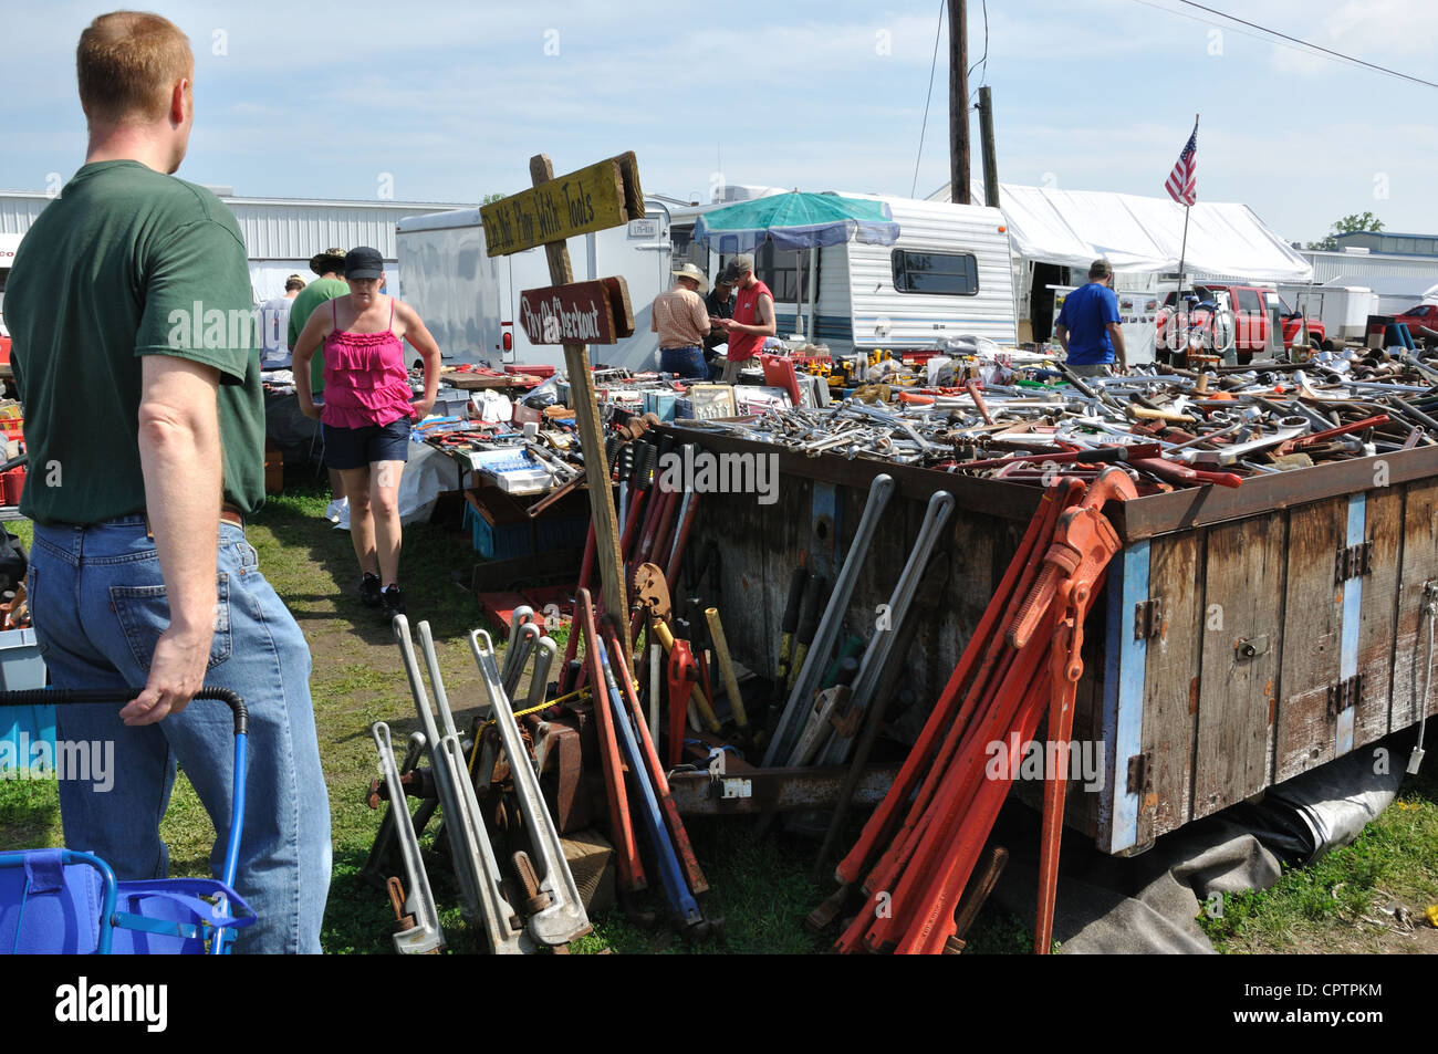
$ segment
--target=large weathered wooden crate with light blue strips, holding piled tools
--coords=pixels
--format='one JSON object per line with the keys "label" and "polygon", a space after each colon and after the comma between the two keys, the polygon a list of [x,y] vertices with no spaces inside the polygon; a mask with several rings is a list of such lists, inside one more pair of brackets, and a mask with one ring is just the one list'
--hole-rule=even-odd
{"label": "large weathered wooden crate with light blue strips, holding piled tools", "polygon": [[[696,439],[679,429],[676,436]],[[718,453],[774,453],[728,437],[703,443]],[[1012,558],[1038,490],[863,459],[775,456],[775,503],[705,495],[690,538],[690,546],[718,545],[729,646],[766,677],[789,571],[802,562],[834,579],[876,473],[892,475],[897,492],[846,633],[871,634],[928,498],[940,489],[955,496],[940,542],[943,614],[919,628],[905,679],[922,705],[890,729],[912,741]],[[1237,490],[1142,498],[1110,518],[1125,548],[1084,628],[1074,713],[1074,739],[1102,749],[1103,788],[1071,788],[1067,814],[1100,848],[1142,848],[1418,722],[1419,610],[1425,582],[1438,581],[1438,450],[1258,477]],[[1340,551],[1355,546],[1368,546],[1366,571],[1340,574]],[[1135,608],[1148,601],[1159,601],[1162,615],[1153,636],[1140,637]],[[1438,677],[1426,712],[1438,713]],[[1040,791],[1020,785],[1035,799]]]}

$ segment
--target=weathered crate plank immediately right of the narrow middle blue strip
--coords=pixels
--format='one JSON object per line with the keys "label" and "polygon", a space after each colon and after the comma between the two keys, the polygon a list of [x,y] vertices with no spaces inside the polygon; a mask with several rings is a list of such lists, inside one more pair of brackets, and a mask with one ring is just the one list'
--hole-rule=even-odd
{"label": "weathered crate plank immediately right of the narrow middle blue strip", "polygon": [[1373,544],[1373,571],[1363,577],[1359,615],[1357,672],[1363,696],[1353,718],[1353,745],[1388,735],[1393,684],[1393,634],[1398,625],[1398,569],[1403,542],[1403,492],[1401,487],[1368,492],[1368,538]]}

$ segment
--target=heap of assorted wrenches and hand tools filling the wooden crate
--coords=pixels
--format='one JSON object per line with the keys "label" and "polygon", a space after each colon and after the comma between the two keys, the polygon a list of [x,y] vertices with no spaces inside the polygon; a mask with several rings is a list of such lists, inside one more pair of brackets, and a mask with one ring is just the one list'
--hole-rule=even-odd
{"label": "heap of assorted wrenches and hand tools filling the wooden crate", "polygon": [[1438,359],[1350,348],[1301,364],[1206,372],[1155,365],[1099,378],[1060,365],[1054,382],[966,381],[903,391],[893,403],[848,398],[683,426],[811,457],[870,457],[986,479],[1047,483],[1055,472],[1094,479],[1104,464],[1123,464],[1139,495],[1237,487],[1252,476],[1434,444]]}

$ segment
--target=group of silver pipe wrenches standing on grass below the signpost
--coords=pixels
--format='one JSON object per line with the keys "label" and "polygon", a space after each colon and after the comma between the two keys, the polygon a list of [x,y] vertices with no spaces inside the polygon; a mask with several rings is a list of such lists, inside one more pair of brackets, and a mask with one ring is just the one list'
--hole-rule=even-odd
{"label": "group of silver pipe wrenches standing on grass below the signpost", "polygon": [[[437,802],[443,812],[464,916],[483,933],[486,950],[518,955],[539,948],[565,948],[588,933],[591,926],[510,703],[529,653],[535,656],[529,703],[536,699],[544,703],[549,667],[558,647],[533,623],[516,627],[505,653],[505,670],[500,672],[489,634],[483,630],[469,634],[490,720],[476,722],[466,742],[454,726],[429,623],[420,623],[417,630],[430,690],[424,687],[408,620],[395,615],[393,627],[420,729],[410,736],[410,748],[401,765],[395,762],[390,726],[375,722],[371,728],[384,784],[383,788],[371,788],[370,804],[378,807],[381,798],[388,798],[390,810],[381,822],[367,867],[383,867],[391,850],[398,848],[404,879],[390,876],[387,881],[397,919],[395,950],[408,955],[433,953],[444,946],[416,830],[417,818],[423,828],[423,821],[433,814],[430,801]],[[513,867],[509,873],[500,867],[502,856],[495,851],[495,831],[487,822],[495,810],[480,805],[482,795],[490,794],[500,752],[508,764],[506,782],[512,784],[519,811],[519,820],[506,824],[510,844],[503,858]],[[429,769],[418,766],[421,755],[429,758]],[[414,817],[410,814],[407,795],[423,802]],[[516,838],[523,840],[523,848],[518,847]],[[515,896],[515,883],[523,893],[522,900]]]}

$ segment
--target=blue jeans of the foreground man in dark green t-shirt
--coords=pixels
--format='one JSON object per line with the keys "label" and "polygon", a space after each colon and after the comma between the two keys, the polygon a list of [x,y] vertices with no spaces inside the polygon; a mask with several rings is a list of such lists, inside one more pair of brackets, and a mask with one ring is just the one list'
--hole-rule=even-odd
{"label": "blue jeans of the foreground man in dark green t-shirt", "polygon": [[[319,953],[329,893],[329,795],[309,702],[309,647],[259,571],[244,531],[221,522],[219,604],[207,687],[237,692],[250,713],[244,827],[236,890],[259,922],[236,952]],[[214,700],[194,700],[155,725],[131,728],[122,689],[142,687],[170,604],[141,516],[88,528],[35,528],[29,572],[35,636],[56,687],[114,687],[114,705],[58,706],[56,739],[114,742],[104,784],[60,781],[65,844],[108,861],[122,881],[167,876],[158,824],[178,762],[216,828],[219,877],[230,828],[234,725]],[[63,774],[62,774],[63,775]]]}

